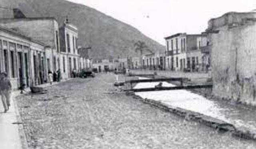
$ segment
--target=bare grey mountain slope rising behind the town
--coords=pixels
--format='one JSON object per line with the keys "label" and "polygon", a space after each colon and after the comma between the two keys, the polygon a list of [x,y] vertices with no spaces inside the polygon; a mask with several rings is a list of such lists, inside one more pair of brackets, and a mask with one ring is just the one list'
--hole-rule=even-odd
{"label": "bare grey mountain slope rising behind the town", "polygon": [[[19,8],[26,17],[54,17],[59,26],[68,20],[79,29],[78,44],[92,47],[94,58],[136,55],[134,43],[143,41],[151,51],[164,46],[138,29],[107,16],[98,10],[66,0],[0,0],[0,6]],[[12,10],[0,8],[0,18],[10,18]]]}

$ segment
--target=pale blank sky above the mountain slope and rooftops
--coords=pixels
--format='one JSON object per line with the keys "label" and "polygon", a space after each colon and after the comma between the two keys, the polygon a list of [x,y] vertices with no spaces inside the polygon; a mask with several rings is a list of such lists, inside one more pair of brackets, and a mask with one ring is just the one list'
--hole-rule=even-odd
{"label": "pale blank sky above the mountain slope and rooftops", "polygon": [[175,33],[198,34],[211,18],[226,12],[250,12],[256,0],[69,0],[130,24],[165,44]]}

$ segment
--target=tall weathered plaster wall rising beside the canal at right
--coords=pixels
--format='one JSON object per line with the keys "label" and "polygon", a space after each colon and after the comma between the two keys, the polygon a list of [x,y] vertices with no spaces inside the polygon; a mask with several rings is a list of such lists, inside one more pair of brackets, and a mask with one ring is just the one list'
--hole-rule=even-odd
{"label": "tall weathered plaster wall rising beside the canal at right", "polygon": [[256,24],[218,30],[210,35],[213,94],[256,105]]}

